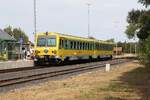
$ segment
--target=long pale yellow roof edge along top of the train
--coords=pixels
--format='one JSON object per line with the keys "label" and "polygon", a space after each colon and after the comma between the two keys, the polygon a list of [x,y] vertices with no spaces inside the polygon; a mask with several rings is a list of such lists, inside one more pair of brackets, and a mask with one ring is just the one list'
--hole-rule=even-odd
{"label": "long pale yellow roof edge along top of the train", "polygon": [[[38,35],[44,35],[45,33],[44,32],[43,33],[39,33]],[[73,36],[73,35],[57,33],[57,32],[48,32],[48,34],[52,34],[52,35],[56,34],[56,35],[59,35],[60,37],[69,38],[69,39],[78,39],[78,40],[90,41],[90,42],[95,41],[95,42],[101,42],[101,43],[106,43],[106,44],[114,44],[112,42],[107,42],[107,41],[103,41],[103,40],[90,39],[90,38],[85,38],[85,37],[79,37],[79,36]]]}

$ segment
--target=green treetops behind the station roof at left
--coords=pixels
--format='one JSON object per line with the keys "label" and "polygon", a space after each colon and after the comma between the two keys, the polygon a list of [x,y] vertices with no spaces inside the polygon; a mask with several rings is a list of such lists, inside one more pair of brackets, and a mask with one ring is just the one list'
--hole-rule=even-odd
{"label": "green treetops behind the station roof at left", "polygon": [[28,36],[21,30],[21,28],[12,28],[11,26],[8,26],[4,29],[4,31],[11,36],[14,36],[17,41],[19,41],[20,38],[23,38],[24,43],[27,43],[29,40]]}

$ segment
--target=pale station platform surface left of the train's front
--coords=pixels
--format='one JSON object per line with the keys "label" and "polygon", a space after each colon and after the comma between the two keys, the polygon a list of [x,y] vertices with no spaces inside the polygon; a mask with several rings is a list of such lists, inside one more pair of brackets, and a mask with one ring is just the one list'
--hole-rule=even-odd
{"label": "pale station platform surface left of the train's front", "polygon": [[32,66],[33,60],[0,61],[0,70]]}

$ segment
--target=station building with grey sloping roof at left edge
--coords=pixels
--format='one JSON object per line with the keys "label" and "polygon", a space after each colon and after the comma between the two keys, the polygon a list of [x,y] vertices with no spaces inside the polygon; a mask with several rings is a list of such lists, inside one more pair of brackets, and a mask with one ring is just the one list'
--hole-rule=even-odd
{"label": "station building with grey sloping roof at left edge", "polygon": [[0,60],[18,58],[19,44],[16,39],[0,29]]}

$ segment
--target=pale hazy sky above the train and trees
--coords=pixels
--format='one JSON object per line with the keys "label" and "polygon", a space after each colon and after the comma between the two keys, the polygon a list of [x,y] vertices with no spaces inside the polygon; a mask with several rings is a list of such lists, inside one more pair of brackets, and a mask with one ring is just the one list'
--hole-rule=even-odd
{"label": "pale hazy sky above the train and trees", "polygon": [[[20,27],[34,40],[33,0],[0,0],[0,28]],[[100,40],[127,41],[128,12],[141,9],[138,0],[37,0],[37,32],[59,32]]]}

